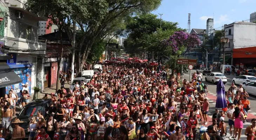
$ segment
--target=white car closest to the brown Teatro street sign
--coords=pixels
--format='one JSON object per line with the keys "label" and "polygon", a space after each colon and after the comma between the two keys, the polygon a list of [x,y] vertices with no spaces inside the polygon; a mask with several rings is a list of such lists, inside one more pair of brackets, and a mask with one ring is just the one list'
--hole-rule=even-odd
{"label": "white car closest to the brown Teatro street sign", "polygon": [[205,76],[206,82],[209,81],[213,84],[218,83],[220,79],[222,80],[223,84],[226,84],[228,82],[227,77],[220,72],[211,72]]}

